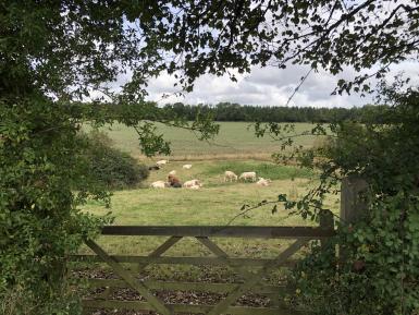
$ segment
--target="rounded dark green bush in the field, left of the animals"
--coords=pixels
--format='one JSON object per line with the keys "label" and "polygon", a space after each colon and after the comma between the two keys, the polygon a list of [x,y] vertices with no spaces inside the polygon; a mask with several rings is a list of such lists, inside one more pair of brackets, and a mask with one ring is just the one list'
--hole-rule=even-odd
{"label": "rounded dark green bush in the field, left of the animals", "polygon": [[148,168],[128,154],[112,147],[112,141],[107,134],[93,131],[86,137],[86,157],[93,180],[118,190],[135,186],[148,178]]}

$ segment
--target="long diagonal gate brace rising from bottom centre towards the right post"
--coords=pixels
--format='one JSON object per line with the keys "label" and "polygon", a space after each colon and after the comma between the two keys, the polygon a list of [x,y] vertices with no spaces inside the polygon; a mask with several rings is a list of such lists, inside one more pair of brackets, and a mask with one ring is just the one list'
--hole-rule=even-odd
{"label": "long diagonal gate brace rising from bottom centre towards the right post", "polygon": [[211,311],[209,311],[208,315],[219,315],[226,312],[229,306],[234,303],[241,295],[247,292],[251,287],[257,284],[267,274],[267,271],[275,266],[280,266],[284,261],[286,261],[289,256],[296,253],[307,240],[297,240],[293,244],[291,244],[284,252],[282,252],[276,259],[273,262],[267,263],[262,269],[258,270],[255,275],[252,275],[245,283],[242,286],[237,286],[223,301],[221,301],[217,306],[214,306]]}

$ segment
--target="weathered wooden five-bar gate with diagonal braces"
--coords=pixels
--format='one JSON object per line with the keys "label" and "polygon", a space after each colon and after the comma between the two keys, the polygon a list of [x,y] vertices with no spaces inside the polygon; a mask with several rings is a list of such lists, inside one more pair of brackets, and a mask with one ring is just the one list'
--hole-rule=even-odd
{"label": "weathered wooden five-bar gate with diagonal braces", "polygon": [[[155,311],[158,314],[173,315],[176,313],[200,313],[208,315],[242,314],[242,315],[279,315],[296,314],[285,311],[280,301],[286,293],[286,288],[270,286],[263,281],[263,276],[270,270],[286,266],[289,257],[308,241],[329,238],[334,233],[333,219],[321,220],[320,227],[137,227],[109,226],[102,230],[103,235],[165,235],[169,237],[159,247],[148,256],[108,255],[108,253],[93,240],[86,240],[96,255],[76,255],[72,261],[102,262],[108,264],[120,279],[88,279],[90,288],[106,288],[97,299],[83,301],[86,314],[93,308],[125,308]],[[183,238],[195,238],[212,254],[211,257],[172,257],[163,254]],[[237,258],[230,257],[217,243],[215,238],[261,238],[261,239],[293,239],[291,245],[275,258]],[[136,264],[136,272],[124,267],[125,263]],[[124,264],[124,265],[122,265]],[[186,264],[229,266],[237,271],[243,281],[241,283],[202,283],[140,280],[137,275],[150,264]],[[255,267],[255,272],[243,267]],[[109,293],[115,288],[131,288],[138,292],[146,302],[110,300]],[[226,294],[215,305],[167,304],[153,294],[153,291],[204,291]],[[234,306],[233,304],[246,293],[258,293],[273,301],[267,307]]]}

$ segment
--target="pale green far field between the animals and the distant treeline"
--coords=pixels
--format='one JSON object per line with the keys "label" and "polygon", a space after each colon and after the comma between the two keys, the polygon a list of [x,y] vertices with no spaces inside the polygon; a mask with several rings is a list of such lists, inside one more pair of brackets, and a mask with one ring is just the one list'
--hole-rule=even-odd
{"label": "pale green far field between the animals and the distant treeline", "polygon": [[[278,142],[270,137],[258,138],[248,122],[218,122],[220,133],[213,141],[201,142],[187,130],[175,129],[158,124],[159,133],[172,144],[173,160],[196,159],[269,159],[271,154],[279,149]],[[312,124],[296,123],[295,132],[310,130]],[[114,145],[130,153],[132,156],[143,158],[138,147],[137,135],[132,128],[122,124],[113,124],[102,129],[114,141]],[[301,136],[296,143],[303,146],[311,146],[315,138]]]}

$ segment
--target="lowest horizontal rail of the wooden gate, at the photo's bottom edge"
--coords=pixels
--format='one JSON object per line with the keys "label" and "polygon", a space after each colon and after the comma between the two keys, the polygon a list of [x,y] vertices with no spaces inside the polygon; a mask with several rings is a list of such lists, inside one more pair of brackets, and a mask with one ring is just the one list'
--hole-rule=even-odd
{"label": "lowest horizontal rail of the wooden gate, at the photo's bottom edge", "polygon": [[[212,305],[192,305],[192,304],[165,304],[176,313],[207,313]],[[147,302],[138,301],[83,301],[83,306],[88,308],[120,308],[133,311],[152,311],[153,308]],[[246,306],[230,306],[226,310],[227,314],[232,315],[291,315],[288,310],[268,308],[268,307],[246,307]]]}

